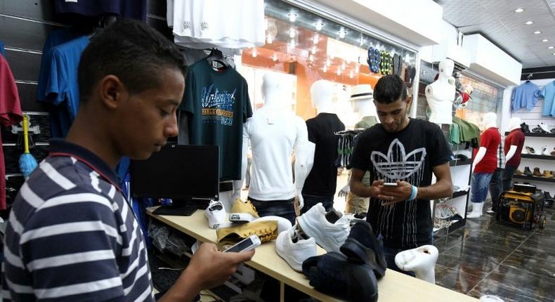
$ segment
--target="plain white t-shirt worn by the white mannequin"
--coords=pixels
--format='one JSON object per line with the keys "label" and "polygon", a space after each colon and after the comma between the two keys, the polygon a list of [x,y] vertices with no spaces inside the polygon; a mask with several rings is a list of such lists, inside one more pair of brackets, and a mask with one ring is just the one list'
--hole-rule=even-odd
{"label": "plain white t-shirt worn by the white mannequin", "polygon": [[250,140],[252,150],[249,197],[259,200],[295,197],[292,153],[296,145],[308,143],[303,119],[292,112],[262,107],[247,119],[243,139]]}

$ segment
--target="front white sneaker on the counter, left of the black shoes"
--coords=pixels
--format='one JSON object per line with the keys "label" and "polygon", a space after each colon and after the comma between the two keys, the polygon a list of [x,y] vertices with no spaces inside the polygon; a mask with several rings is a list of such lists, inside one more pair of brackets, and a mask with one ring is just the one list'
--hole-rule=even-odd
{"label": "front white sneaker on the counter, left of the black shoes", "polygon": [[303,261],[316,256],[314,238],[302,239],[296,228],[280,232],[275,240],[275,252],[297,272],[303,271]]}

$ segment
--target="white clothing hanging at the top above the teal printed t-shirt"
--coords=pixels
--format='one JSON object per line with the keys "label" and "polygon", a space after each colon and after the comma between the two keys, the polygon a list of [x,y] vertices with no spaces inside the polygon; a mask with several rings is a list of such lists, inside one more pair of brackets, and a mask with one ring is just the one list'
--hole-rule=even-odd
{"label": "white clothing hanging at the top above the teal printed t-shirt", "polygon": [[168,26],[174,27],[178,45],[248,48],[265,44],[263,0],[166,1]]}

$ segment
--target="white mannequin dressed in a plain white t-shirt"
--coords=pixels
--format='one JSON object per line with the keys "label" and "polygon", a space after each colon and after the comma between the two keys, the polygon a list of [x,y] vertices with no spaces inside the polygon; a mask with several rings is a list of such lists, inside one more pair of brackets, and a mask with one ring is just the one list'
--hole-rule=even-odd
{"label": "white mannequin dressed in a plain white t-shirt", "polygon": [[[299,197],[299,204],[303,204],[301,190],[312,169],[314,144],[308,141],[306,123],[291,112],[291,103],[287,101],[287,82],[282,77],[265,74],[262,96],[264,107],[254,112],[243,128],[243,179],[247,173],[249,140],[252,150],[249,197],[259,200]],[[294,185],[291,173],[293,148],[296,158]],[[234,199],[240,197],[243,179],[235,183]]]}

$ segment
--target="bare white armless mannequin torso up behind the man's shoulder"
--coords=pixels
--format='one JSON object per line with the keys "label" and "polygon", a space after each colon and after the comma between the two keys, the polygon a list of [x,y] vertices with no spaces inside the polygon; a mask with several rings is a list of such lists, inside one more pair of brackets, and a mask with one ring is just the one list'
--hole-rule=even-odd
{"label": "bare white armless mannequin torso up behind the man's shoulder", "polygon": [[[439,77],[426,86],[426,100],[430,106],[430,122],[452,124],[452,105],[455,100],[455,78],[452,77],[455,63],[445,59],[439,63]],[[441,125],[440,125],[441,126]]]}

